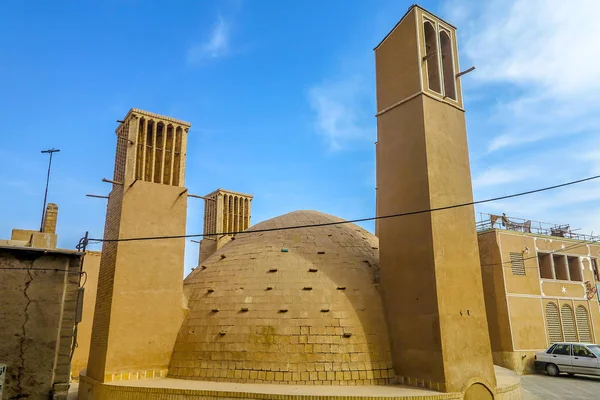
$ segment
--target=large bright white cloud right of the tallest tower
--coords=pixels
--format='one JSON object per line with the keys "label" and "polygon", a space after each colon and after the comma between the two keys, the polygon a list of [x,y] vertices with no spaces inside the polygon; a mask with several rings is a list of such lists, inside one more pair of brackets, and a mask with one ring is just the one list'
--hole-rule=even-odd
{"label": "large bright white cloud right of the tallest tower", "polygon": [[600,46],[589,19],[600,13],[600,2],[449,0],[445,9],[461,28],[463,59],[477,66],[465,86],[511,90],[493,110],[498,135],[488,152],[600,124]]}

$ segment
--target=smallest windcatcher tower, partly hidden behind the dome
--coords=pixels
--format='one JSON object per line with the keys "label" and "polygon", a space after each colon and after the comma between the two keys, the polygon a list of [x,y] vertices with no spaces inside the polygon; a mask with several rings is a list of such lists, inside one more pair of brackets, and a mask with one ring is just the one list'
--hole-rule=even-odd
{"label": "smallest windcatcher tower, partly hidden behind the dome", "polygon": [[217,233],[240,232],[250,227],[252,195],[217,189],[204,196],[204,234],[200,241],[198,264],[229,242],[233,235]]}

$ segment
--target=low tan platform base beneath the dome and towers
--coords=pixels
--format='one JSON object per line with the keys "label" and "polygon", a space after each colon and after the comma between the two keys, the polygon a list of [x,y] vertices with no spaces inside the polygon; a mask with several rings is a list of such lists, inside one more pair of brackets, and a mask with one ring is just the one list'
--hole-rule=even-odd
{"label": "low tan platform base beneath the dome and towers", "polygon": [[[496,367],[498,387],[496,400],[521,400],[521,384],[517,374]],[[343,381],[342,381],[343,382]],[[330,382],[331,383],[331,382]],[[100,383],[87,376],[79,382],[79,400],[373,400],[374,398],[405,400],[463,399],[464,393],[440,393],[411,386],[341,386],[274,385],[256,383],[208,382],[171,378],[139,379]]]}

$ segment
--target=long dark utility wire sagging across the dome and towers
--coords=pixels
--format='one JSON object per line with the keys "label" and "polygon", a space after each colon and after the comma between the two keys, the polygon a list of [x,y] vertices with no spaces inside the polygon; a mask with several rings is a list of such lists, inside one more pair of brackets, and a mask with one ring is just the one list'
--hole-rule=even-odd
{"label": "long dark utility wire sagging across the dome and towers", "polygon": [[510,195],[506,195],[506,196],[492,197],[492,198],[485,199],[485,200],[471,201],[468,203],[453,204],[453,205],[444,206],[444,207],[430,208],[430,209],[418,210],[418,211],[410,211],[410,212],[391,214],[391,215],[381,215],[381,216],[370,217],[370,218],[353,219],[353,220],[347,220],[347,221],[335,221],[335,222],[325,222],[325,223],[321,223],[321,224],[307,224],[307,225],[297,225],[297,226],[283,226],[283,227],[278,227],[278,228],[253,229],[253,230],[237,231],[237,232],[198,233],[198,234],[192,234],[192,235],[133,237],[133,238],[122,238],[122,239],[90,238],[89,241],[94,241],[96,243],[100,243],[100,242],[109,242],[110,243],[110,242],[132,242],[132,241],[139,241],[139,240],[184,239],[184,238],[193,238],[193,237],[238,235],[238,234],[242,234],[242,233],[249,234],[249,233],[283,231],[283,230],[290,230],[290,229],[304,229],[304,228],[314,228],[314,227],[321,227],[321,226],[352,224],[352,223],[357,223],[357,222],[373,221],[373,220],[387,219],[387,218],[406,217],[406,216],[410,216],[410,215],[423,214],[423,213],[427,213],[427,212],[444,211],[444,210],[450,210],[450,209],[459,208],[459,207],[472,206],[472,205],[476,205],[476,204],[490,203],[493,201],[506,200],[506,199],[511,199],[514,197],[526,196],[526,195],[530,195],[530,194],[534,194],[534,193],[540,193],[540,192],[545,192],[548,190],[558,189],[558,188],[565,187],[565,186],[571,186],[571,185],[591,181],[591,180],[598,179],[598,178],[600,178],[600,175],[590,176],[588,178],[583,178],[583,179],[578,179],[575,181],[561,183],[559,185],[553,185],[553,186],[547,186],[547,187],[540,188],[540,189],[529,190],[526,192],[514,193],[514,194],[510,194]]}

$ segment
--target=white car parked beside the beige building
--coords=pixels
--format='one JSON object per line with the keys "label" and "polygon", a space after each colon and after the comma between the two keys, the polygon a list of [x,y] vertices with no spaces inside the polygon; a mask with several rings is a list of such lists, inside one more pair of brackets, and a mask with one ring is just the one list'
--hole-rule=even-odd
{"label": "white car parked beside the beige building", "polygon": [[546,351],[535,353],[535,365],[550,376],[600,375],[600,345],[592,343],[554,343]]}

